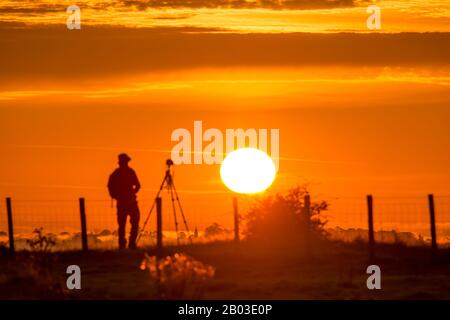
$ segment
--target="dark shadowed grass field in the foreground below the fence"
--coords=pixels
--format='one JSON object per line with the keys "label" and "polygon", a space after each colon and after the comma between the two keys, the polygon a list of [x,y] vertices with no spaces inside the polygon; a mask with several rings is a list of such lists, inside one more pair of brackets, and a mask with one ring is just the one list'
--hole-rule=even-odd
{"label": "dark shadowed grass field in the foreground below the fence", "polygon": [[[156,299],[155,286],[139,269],[153,249],[30,253],[0,258],[1,299]],[[432,262],[428,248],[379,245],[382,289],[366,287],[364,243],[326,243],[309,254],[296,246],[231,242],[168,247],[216,268],[204,299],[450,299],[450,250]],[[79,265],[82,289],[66,289],[66,268]],[[189,298],[189,297],[186,297]]]}

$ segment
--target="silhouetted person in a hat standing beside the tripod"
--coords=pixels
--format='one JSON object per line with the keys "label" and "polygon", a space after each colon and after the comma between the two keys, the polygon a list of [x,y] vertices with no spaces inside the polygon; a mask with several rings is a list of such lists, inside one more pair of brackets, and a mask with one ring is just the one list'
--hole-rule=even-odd
{"label": "silhouetted person in a hat standing beside the tripod", "polygon": [[108,191],[110,196],[117,201],[117,223],[119,224],[119,248],[124,249],[125,225],[127,216],[130,216],[131,231],[128,247],[136,248],[136,238],[139,232],[139,207],[136,200],[141,185],[133,169],[128,166],[131,158],[125,154],[119,154],[119,168],[109,176]]}

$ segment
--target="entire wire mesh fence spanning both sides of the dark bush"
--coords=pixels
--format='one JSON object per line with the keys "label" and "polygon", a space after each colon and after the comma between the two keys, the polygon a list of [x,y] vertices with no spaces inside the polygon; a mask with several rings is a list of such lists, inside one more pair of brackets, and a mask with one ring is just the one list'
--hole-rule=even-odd
{"label": "entire wire mesh fence spanning both sides of the dark bush", "polygon": [[[314,200],[312,198],[312,202]],[[326,229],[331,238],[344,241],[368,239],[368,207],[365,197],[338,197],[325,200],[329,203],[329,209],[321,212],[321,219],[327,221]],[[180,233],[176,233],[171,201],[164,196],[162,210],[165,243],[176,243],[178,237],[187,241],[188,237],[193,235],[196,236],[196,241],[217,239],[212,236],[214,230],[217,231],[217,235],[221,233],[221,238],[232,238],[233,208],[232,199],[229,196],[208,194],[205,197],[204,194],[185,194],[181,201],[189,232],[178,211],[178,231],[183,234],[180,237]],[[245,215],[254,201],[251,197],[240,197],[240,213]],[[450,196],[436,196],[434,201],[437,242],[440,246],[448,246],[450,244]],[[141,227],[152,203],[152,199],[139,201]],[[376,242],[401,242],[412,246],[430,244],[430,212],[426,196],[374,197],[373,212]],[[155,215],[156,213],[153,212],[144,230],[143,245],[155,244]],[[27,239],[34,236],[33,230],[36,228],[43,228],[45,234],[50,234],[56,239],[56,249],[81,248],[78,199],[12,199],[12,216],[15,247],[18,250],[27,248]],[[87,198],[86,217],[89,248],[117,247],[116,208],[111,200]],[[216,229],[208,229],[215,223],[217,223]],[[222,228],[218,229],[219,225]],[[7,245],[8,240],[6,206],[1,205],[0,243]]]}

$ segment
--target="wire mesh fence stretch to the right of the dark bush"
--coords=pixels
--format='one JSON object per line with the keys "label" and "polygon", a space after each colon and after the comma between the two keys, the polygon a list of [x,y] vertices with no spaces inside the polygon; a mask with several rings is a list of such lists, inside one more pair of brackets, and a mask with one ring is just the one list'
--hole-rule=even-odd
{"label": "wire mesh fence stretch to the right of the dark bush", "polygon": [[[431,241],[427,197],[374,197],[373,216],[377,242],[427,245]],[[437,241],[450,243],[450,196],[434,197]],[[323,215],[333,238],[353,241],[368,238],[368,205],[364,197],[329,201]]]}

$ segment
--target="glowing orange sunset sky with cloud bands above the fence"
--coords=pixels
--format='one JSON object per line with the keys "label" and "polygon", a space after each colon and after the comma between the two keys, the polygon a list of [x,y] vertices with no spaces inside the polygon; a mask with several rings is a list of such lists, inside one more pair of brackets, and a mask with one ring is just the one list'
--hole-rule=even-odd
{"label": "glowing orange sunset sky with cloud bands above the fence", "polygon": [[[105,184],[125,151],[148,202],[171,132],[194,120],[279,128],[269,193],[309,183],[325,199],[450,195],[449,1],[378,1],[375,34],[361,1],[126,2],[86,4],[80,31],[65,28],[60,2],[0,3],[2,198],[85,196],[113,214]],[[179,166],[176,183],[194,225],[231,225],[218,166]]]}

